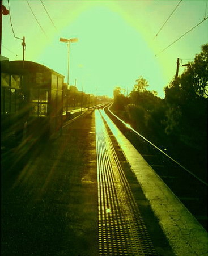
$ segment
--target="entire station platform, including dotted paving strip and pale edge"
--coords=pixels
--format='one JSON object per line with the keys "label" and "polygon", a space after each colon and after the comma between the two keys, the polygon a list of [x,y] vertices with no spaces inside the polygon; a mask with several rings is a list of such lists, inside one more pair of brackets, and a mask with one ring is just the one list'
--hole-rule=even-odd
{"label": "entire station platform, including dotted paving strip and pale edge", "polygon": [[1,154],[2,255],[207,255],[207,232],[103,110]]}

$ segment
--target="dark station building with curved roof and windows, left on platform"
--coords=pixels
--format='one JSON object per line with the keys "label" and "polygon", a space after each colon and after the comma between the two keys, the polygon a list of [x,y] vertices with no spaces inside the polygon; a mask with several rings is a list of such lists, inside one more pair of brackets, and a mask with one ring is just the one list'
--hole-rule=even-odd
{"label": "dark station building with curved roof and windows, left on platform", "polygon": [[32,61],[2,61],[2,118],[16,111],[15,116],[27,122],[27,132],[57,132],[62,127],[64,76]]}

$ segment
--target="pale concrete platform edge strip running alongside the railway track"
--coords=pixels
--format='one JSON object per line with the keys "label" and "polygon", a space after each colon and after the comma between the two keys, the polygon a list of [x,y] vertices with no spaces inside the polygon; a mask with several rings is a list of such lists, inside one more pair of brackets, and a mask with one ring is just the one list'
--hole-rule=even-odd
{"label": "pale concrete platform edge strip running alongside the railway track", "polygon": [[176,255],[207,255],[206,230],[160,179],[111,119],[101,112],[134,171]]}

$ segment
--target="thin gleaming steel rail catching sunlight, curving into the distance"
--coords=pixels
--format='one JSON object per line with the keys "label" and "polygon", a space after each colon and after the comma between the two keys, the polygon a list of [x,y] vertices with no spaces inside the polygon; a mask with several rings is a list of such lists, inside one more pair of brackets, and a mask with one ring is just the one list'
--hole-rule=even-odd
{"label": "thin gleaming steel rail catching sunlight, curving into the distance", "polygon": [[173,162],[175,162],[177,165],[179,165],[182,169],[184,169],[185,171],[187,171],[189,174],[191,174],[194,178],[196,178],[198,181],[200,181],[201,183],[205,184],[206,186],[208,186],[208,184],[203,181],[201,178],[199,178],[196,174],[192,173],[192,171],[189,171],[188,169],[186,169],[186,167],[182,166],[179,162],[177,162],[176,160],[174,160],[171,156],[168,156],[167,153],[165,153],[162,149],[158,148],[158,146],[154,145],[151,141],[147,140],[143,135],[141,135],[140,133],[138,133],[137,131],[135,131],[135,129],[133,129],[130,124],[125,123],[124,120],[120,119],[120,117],[118,117],[117,115],[115,115],[111,110],[110,107],[112,106],[113,103],[109,104],[108,106],[104,107],[105,108],[108,107],[108,111],[114,116],[116,117],[119,121],[121,121],[121,123],[123,123],[127,128],[129,128],[131,131],[133,131],[134,133],[136,133],[138,136],[142,137],[142,139],[144,139],[145,141],[147,141],[150,145],[154,146],[154,148],[158,149],[161,153],[163,153],[166,157],[168,157],[170,160],[172,160]]}

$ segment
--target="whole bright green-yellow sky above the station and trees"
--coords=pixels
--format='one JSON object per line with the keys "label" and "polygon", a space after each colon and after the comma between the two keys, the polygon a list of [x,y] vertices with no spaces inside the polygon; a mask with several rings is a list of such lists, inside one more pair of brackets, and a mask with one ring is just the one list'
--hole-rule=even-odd
{"label": "whole bright green-yellow sky above the station and trees", "polygon": [[[78,38],[70,43],[69,83],[74,85],[76,79],[78,90],[86,93],[112,97],[115,87],[130,93],[142,76],[149,83],[147,89],[164,98],[177,58],[187,64],[208,43],[208,19],[176,41],[208,16],[208,0],[28,2],[37,20],[26,0],[9,0],[15,36],[26,39],[25,60],[65,75],[67,82],[68,48],[60,37]],[[9,9],[8,0],[3,5]],[[9,15],[3,15],[2,55],[22,60],[21,43],[14,37]],[[179,75],[184,70],[180,66]]]}

